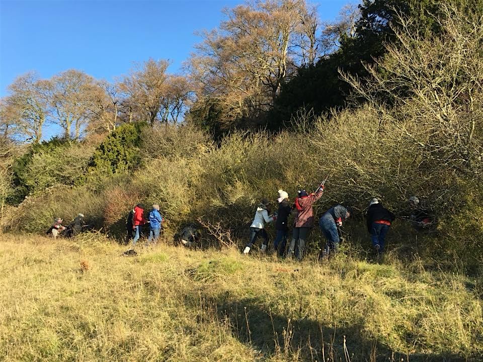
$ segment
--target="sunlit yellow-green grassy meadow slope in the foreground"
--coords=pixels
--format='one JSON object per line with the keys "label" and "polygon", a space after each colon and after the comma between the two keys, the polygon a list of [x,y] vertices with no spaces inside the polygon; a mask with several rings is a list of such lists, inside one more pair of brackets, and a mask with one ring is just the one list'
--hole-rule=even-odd
{"label": "sunlit yellow-green grassy meadow slope in the foreground", "polygon": [[125,249],[0,235],[0,359],[483,358],[483,286],[418,262]]}

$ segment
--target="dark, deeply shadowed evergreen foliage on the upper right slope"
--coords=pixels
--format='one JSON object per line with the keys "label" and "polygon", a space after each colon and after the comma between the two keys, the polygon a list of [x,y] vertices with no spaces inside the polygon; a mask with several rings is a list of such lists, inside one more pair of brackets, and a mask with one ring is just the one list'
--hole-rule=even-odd
{"label": "dark, deeply shadowed evergreen foliage on the upper right slope", "polygon": [[[273,130],[286,127],[300,108],[313,109],[316,115],[320,115],[334,108],[350,106],[348,96],[352,87],[341,79],[339,72],[366,77],[366,65],[383,57],[388,45],[398,45],[395,31],[403,27],[422,36],[438,34],[440,25],[431,16],[438,14],[438,8],[436,0],[364,0],[359,5],[361,15],[356,23],[355,37],[343,35],[336,52],[321,58],[314,66],[301,68],[295,77],[283,84],[280,96],[267,116],[267,126]],[[399,17],[409,20],[401,24]],[[384,99],[384,94],[378,97]],[[362,99],[357,101],[364,102]]]}

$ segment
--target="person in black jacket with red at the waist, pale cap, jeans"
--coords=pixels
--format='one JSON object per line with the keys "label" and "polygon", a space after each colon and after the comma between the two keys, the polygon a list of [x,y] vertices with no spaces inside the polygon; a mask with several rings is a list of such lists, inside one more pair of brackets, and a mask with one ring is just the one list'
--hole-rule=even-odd
{"label": "person in black jacket with red at the waist, pale cap, jeans", "polygon": [[382,206],[379,200],[372,199],[367,211],[367,231],[371,234],[374,250],[381,254],[384,250],[386,234],[396,217]]}

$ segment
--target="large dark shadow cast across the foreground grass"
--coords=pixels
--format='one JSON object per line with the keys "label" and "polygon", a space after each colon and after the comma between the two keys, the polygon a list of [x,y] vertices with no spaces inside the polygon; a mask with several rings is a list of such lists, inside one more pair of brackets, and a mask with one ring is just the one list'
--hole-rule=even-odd
{"label": "large dark shadow cast across the foreground grass", "polygon": [[228,323],[240,342],[259,351],[262,360],[278,356],[307,362],[476,362],[481,358],[465,358],[449,351],[442,354],[393,351],[376,338],[368,338],[361,324],[333,328],[312,319],[290,319],[261,306],[256,299],[226,303],[205,299],[205,302],[216,310],[220,321]]}

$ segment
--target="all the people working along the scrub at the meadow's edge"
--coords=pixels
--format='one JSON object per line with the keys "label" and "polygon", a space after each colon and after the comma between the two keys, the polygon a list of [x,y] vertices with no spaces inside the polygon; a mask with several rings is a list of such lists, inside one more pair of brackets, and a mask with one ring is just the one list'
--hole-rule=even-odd
{"label": "all the people working along the scrub at the meadow's edge", "polygon": [[[272,215],[270,215],[270,202],[267,199],[262,199],[250,226],[249,242],[243,253],[248,254],[253,249],[258,238],[262,239],[260,250],[265,252],[269,241],[265,225],[275,222],[274,251],[280,257],[301,260],[304,255],[307,238],[315,224],[313,204],[321,198],[324,190],[324,183],[320,184],[313,193],[300,190],[297,192],[297,197],[293,203],[290,202],[286,191],[278,190],[278,210]],[[431,228],[434,225],[434,218],[427,209],[421,207],[420,200],[413,196],[408,201],[412,211],[408,215],[401,217],[409,219],[418,231]],[[133,247],[141,236],[143,226],[149,227],[147,245],[155,244],[161,233],[164,218],[159,211],[159,205],[153,204],[147,217],[144,216],[144,209],[145,207],[142,204],[136,205],[129,212],[126,220],[127,238],[132,240]],[[292,238],[287,248],[288,219],[291,215],[294,215]],[[337,252],[341,240],[341,227],[351,216],[353,216],[351,207],[337,204],[319,218],[318,226],[326,239],[325,245],[320,247],[319,258],[330,258]],[[367,231],[370,234],[372,245],[377,254],[381,254],[384,251],[385,237],[394,220],[394,213],[383,207],[380,200],[374,198],[369,202],[366,215]],[[66,236],[75,236],[87,226],[82,213],[79,213],[67,227],[62,226],[62,221],[61,218],[55,218],[53,224],[47,230],[47,234],[56,238],[59,232],[64,231]],[[200,240],[200,237],[201,233],[193,223],[186,225],[179,233],[179,240],[185,246],[193,246]]]}

